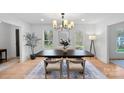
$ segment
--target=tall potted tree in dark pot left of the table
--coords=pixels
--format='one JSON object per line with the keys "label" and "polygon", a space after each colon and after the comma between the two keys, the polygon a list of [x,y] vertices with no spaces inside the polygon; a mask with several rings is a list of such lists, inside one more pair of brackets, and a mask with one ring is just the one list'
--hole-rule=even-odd
{"label": "tall potted tree in dark pot left of the table", "polygon": [[34,53],[34,49],[37,46],[38,41],[41,40],[41,39],[39,39],[35,35],[35,33],[26,33],[24,35],[24,38],[26,40],[26,46],[29,46],[31,48],[30,58],[31,59],[35,59],[36,56],[35,56],[35,53]]}

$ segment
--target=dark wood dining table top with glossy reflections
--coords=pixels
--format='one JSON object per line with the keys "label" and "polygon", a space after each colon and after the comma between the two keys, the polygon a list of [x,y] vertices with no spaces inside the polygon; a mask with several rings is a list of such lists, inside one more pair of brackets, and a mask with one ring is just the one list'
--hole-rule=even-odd
{"label": "dark wood dining table top with glossy reflections", "polygon": [[38,57],[69,57],[69,58],[80,58],[80,57],[94,57],[94,55],[86,50],[59,50],[59,49],[53,49],[53,50],[43,50],[39,53],[37,53]]}

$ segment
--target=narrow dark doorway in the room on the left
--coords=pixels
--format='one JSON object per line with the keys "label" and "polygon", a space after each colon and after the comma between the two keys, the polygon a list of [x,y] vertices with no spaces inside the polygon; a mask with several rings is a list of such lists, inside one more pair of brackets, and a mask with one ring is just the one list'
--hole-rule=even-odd
{"label": "narrow dark doorway in the room on the left", "polygon": [[16,57],[20,57],[20,38],[19,29],[15,29],[15,39],[16,39]]}

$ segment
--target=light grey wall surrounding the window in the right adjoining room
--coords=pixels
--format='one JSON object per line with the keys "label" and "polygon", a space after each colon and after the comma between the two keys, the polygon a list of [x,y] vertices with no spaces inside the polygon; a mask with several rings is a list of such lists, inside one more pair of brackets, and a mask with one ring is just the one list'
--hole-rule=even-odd
{"label": "light grey wall surrounding the window in the right adjoining room", "polygon": [[124,59],[123,52],[117,52],[117,35],[118,31],[124,30],[124,22],[116,23],[108,26],[108,41],[109,41],[109,58],[110,59]]}

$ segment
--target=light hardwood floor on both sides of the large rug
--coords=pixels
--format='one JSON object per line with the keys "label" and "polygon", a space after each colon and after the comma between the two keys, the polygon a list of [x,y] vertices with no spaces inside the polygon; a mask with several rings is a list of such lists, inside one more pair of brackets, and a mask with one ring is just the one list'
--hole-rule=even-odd
{"label": "light hardwood floor on both sides of the large rug", "polygon": [[[9,66],[6,69],[0,70],[1,79],[23,79],[43,58],[37,57],[35,60],[28,60],[23,63],[19,63],[19,60],[11,60],[0,64]],[[87,58],[89,62],[94,64],[103,74],[109,79],[124,79],[124,68],[121,68],[115,64],[104,64],[96,58]],[[13,63],[13,64],[12,64]],[[11,65],[10,65],[11,64]]]}

